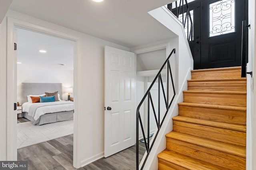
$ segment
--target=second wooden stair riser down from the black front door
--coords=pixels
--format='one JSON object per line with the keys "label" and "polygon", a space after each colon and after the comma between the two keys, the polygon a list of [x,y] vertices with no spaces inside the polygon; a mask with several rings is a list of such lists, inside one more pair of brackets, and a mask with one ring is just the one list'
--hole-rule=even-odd
{"label": "second wooden stair riser down from the black front door", "polygon": [[246,92],[246,81],[188,82],[188,90]]}

